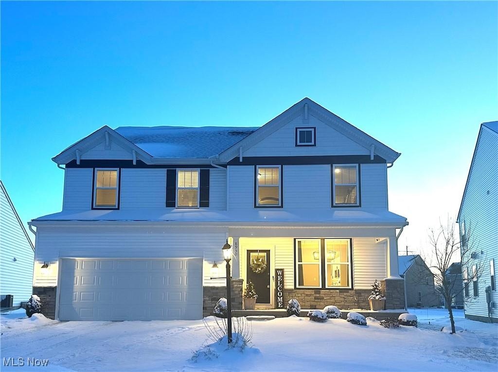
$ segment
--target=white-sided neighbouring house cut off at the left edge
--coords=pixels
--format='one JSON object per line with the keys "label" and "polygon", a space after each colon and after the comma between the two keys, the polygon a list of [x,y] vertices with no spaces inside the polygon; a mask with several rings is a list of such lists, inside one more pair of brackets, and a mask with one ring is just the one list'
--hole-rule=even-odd
{"label": "white-sided neighbouring house cut off at the left edge", "polygon": [[0,189],[0,295],[2,307],[6,295],[19,307],[32,293],[34,247],[1,181]]}

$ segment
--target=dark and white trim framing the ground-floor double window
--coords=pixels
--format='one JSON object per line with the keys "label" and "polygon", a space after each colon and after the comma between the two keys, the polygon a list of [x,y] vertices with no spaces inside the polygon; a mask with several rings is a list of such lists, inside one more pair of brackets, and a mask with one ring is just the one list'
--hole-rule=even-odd
{"label": "dark and white trim framing the ground-floor double window", "polygon": [[[349,259],[350,259],[350,265],[349,265],[349,278],[350,278],[350,285],[348,287],[327,287],[326,280],[326,274],[327,274],[327,267],[323,262],[325,261],[325,241],[326,240],[348,240],[349,241]],[[298,270],[297,270],[297,241],[298,240],[320,240],[320,287],[300,287],[298,285]],[[335,290],[335,291],[342,291],[342,290],[347,290],[350,291],[352,289],[355,289],[354,286],[354,266],[353,266],[353,239],[352,238],[334,238],[334,237],[327,237],[327,238],[294,238],[294,289],[320,289],[320,290]]]}

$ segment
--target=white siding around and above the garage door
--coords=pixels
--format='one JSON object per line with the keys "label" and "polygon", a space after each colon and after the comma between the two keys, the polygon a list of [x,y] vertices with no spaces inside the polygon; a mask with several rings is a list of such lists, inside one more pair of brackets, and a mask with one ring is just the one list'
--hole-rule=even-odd
{"label": "white siding around and above the garage door", "polygon": [[[59,257],[175,258],[204,257],[204,285],[223,285],[211,280],[209,268],[216,260],[225,269],[221,248],[225,228],[167,228],[158,225],[39,226],[37,229],[35,285],[57,285]],[[48,273],[39,267],[50,263]],[[225,261],[223,261],[225,262]],[[222,263],[223,263],[222,262]]]}

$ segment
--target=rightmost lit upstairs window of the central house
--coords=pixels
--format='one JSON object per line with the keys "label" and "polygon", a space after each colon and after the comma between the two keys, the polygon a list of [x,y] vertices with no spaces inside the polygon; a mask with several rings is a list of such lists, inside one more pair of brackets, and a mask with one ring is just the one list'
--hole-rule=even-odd
{"label": "rightmost lit upstairs window of the central house", "polygon": [[358,206],[358,164],[335,164],[332,167],[334,206]]}

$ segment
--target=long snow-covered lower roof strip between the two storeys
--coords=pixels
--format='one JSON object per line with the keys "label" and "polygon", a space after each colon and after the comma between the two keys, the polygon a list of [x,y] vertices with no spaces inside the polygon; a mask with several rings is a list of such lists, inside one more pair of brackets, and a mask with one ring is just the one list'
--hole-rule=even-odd
{"label": "long snow-covered lower roof strip between the two storeys", "polygon": [[407,225],[406,219],[384,209],[334,210],[317,214],[303,210],[231,210],[145,209],[145,210],[85,210],[63,211],[39,217],[37,221],[149,221],[187,223],[240,224],[328,224],[331,226],[396,226]]}

